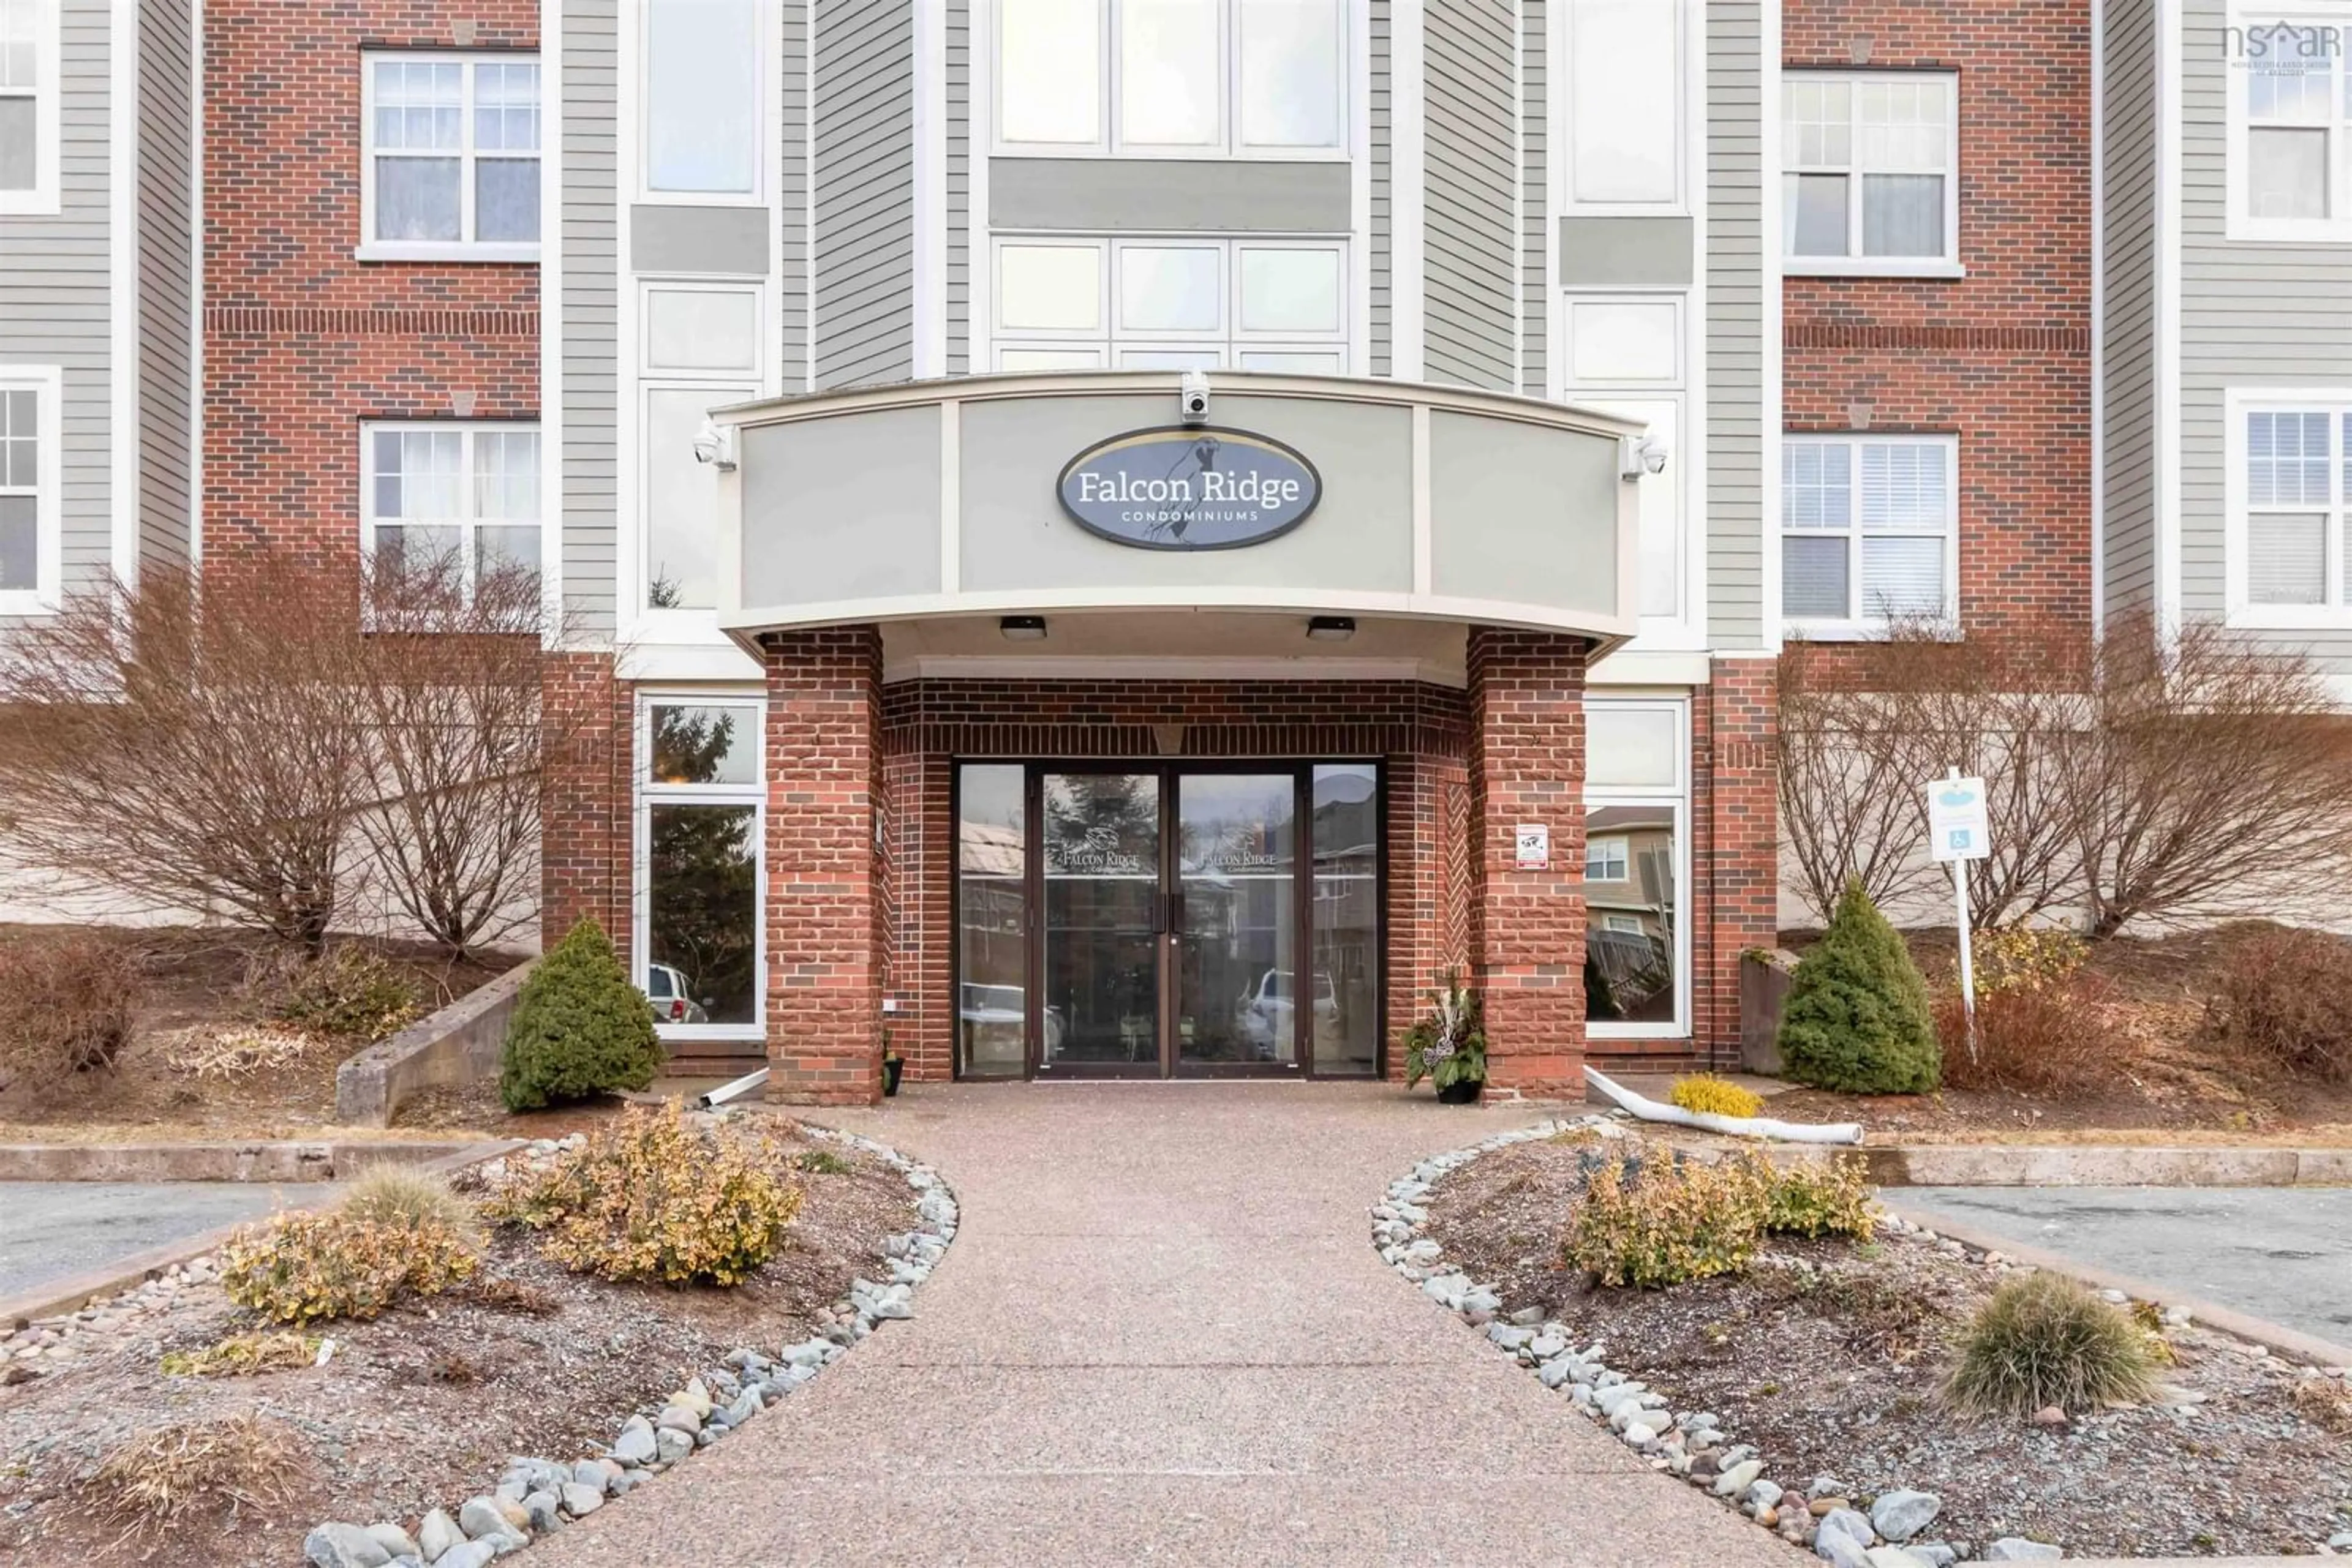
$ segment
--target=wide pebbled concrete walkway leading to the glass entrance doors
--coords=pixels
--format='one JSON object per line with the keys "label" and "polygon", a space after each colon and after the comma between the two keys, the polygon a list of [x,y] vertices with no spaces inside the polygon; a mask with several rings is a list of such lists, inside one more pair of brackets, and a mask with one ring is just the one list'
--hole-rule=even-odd
{"label": "wide pebbled concrete walkway leading to the glass entrance doors", "polygon": [[821,1119],[957,1190],[915,1321],[534,1547],[541,1568],[1809,1561],[1649,1474],[1371,1251],[1392,1175],[1531,1114],[1007,1084]]}

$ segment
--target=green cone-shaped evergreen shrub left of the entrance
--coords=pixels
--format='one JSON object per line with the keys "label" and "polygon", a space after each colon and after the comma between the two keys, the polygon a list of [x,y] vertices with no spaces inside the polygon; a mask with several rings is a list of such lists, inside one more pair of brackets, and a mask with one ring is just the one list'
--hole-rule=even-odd
{"label": "green cone-shaped evergreen shrub left of the entrance", "polygon": [[515,997],[499,1098],[506,1110],[539,1110],[644,1088],[656,1072],[654,1004],[628,983],[604,929],[583,919],[539,959]]}

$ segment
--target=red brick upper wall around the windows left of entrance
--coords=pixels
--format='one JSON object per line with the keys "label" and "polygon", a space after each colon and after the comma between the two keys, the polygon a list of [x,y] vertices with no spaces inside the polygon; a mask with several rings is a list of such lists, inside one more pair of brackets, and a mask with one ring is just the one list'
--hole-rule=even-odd
{"label": "red brick upper wall around the windows left of entrance", "polygon": [[362,49],[536,45],[534,0],[205,7],[207,562],[355,559],[362,421],[539,418],[536,266],[353,259]]}

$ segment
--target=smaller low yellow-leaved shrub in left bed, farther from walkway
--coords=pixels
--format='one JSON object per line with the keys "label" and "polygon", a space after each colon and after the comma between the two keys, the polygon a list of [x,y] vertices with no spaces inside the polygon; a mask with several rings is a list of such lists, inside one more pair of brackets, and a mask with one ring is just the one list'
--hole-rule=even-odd
{"label": "smaller low yellow-leaved shrub in left bed, farther from walkway", "polygon": [[470,1241],[435,1220],[282,1213],[228,1239],[221,1288],[278,1324],[369,1319],[402,1295],[440,1295],[470,1279],[477,1262]]}

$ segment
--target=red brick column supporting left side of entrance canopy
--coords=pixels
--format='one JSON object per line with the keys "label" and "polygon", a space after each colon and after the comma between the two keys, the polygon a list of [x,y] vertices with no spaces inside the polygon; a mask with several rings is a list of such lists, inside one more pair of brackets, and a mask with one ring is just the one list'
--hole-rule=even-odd
{"label": "red brick column supporting left side of entrance canopy", "polygon": [[882,1098],[882,635],[781,632],[767,663],[767,1095]]}

